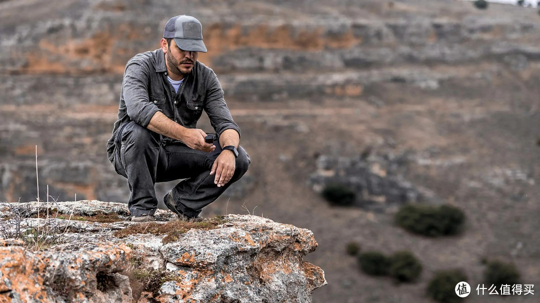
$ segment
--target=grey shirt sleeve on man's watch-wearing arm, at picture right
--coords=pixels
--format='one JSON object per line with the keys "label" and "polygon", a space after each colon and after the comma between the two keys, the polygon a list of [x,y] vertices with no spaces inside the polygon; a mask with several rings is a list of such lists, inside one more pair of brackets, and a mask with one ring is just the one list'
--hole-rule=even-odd
{"label": "grey shirt sleeve on man's watch-wearing arm, at picture right", "polygon": [[207,92],[204,109],[208,118],[210,118],[210,124],[214,127],[215,132],[219,136],[223,131],[232,129],[237,131],[238,136],[240,137],[240,127],[234,123],[231,112],[225,103],[221,84],[213,71],[211,71],[206,87]]}

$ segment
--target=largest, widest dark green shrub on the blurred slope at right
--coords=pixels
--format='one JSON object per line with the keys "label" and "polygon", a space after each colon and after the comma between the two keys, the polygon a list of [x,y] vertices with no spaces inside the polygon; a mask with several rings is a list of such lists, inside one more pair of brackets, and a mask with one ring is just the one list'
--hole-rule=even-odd
{"label": "largest, widest dark green shrub on the blurred slope at right", "polygon": [[465,222],[465,214],[454,206],[405,205],[395,216],[396,224],[405,230],[437,237],[456,234]]}

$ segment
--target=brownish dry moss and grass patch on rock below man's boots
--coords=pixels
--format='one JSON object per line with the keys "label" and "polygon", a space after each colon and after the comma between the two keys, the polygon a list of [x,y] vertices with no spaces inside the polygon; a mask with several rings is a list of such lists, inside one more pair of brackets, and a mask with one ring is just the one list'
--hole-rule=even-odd
{"label": "brownish dry moss and grass patch on rock below man's boots", "polygon": [[165,224],[150,222],[145,224],[131,225],[130,227],[115,232],[114,236],[118,238],[125,238],[127,235],[138,233],[151,233],[154,235],[166,234],[166,236],[161,240],[161,242],[170,243],[178,240],[178,237],[180,237],[181,234],[184,234],[188,230],[191,230],[193,228],[205,231],[213,230],[218,225],[221,225],[225,222],[227,222],[227,220],[223,219],[223,217],[221,216],[205,219],[204,221],[200,222],[172,221]]}

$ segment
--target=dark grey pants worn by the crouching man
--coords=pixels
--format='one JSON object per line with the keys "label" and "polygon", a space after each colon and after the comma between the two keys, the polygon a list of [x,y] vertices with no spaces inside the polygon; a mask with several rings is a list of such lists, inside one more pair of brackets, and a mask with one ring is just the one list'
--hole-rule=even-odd
{"label": "dark grey pants worn by the crouching man", "polygon": [[172,190],[179,211],[195,217],[203,207],[212,203],[232,183],[246,173],[249,159],[239,146],[234,175],[225,186],[214,184],[215,174],[210,175],[221,146],[214,141],[213,152],[193,150],[182,143],[163,144],[163,136],[135,122],[121,126],[114,140],[114,169],[127,178],[131,197],[127,204],[131,216],[153,214],[158,206],[154,185],[178,179]]}

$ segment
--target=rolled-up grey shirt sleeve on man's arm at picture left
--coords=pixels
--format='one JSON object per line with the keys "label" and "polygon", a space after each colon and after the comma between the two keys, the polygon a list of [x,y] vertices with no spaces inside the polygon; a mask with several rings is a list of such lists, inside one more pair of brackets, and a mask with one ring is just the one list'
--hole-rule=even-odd
{"label": "rolled-up grey shirt sleeve on man's arm at picture left", "polygon": [[161,111],[156,104],[151,103],[149,100],[150,69],[145,65],[143,62],[128,62],[122,84],[127,116],[143,127],[148,126],[154,114]]}

